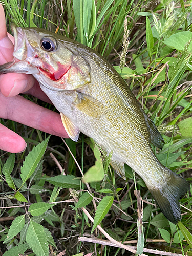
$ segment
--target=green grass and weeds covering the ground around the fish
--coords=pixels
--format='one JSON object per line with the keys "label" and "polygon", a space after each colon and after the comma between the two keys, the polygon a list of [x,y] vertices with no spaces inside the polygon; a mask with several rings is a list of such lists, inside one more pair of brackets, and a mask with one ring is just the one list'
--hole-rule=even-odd
{"label": "green grass and weeds covering the ground around the fish", "polygon": [[[190,37],[192,20],[189,2],[183,3],[182,0],[175,2],[161,1],[156,5],[155,1],[148,0],[132,0],[129,2],[98,0],[97,3],[95,1],[74,0],[72,2],[67,0],[62,2],[61,6],[59,1],[31,2],[22,0],[17,3],[16,0],[12,0],[10,2],[5,1],[3,4],[8,31],[12,22],[21,27],[37,26],[52,32],[55,32],[59,26],[59,34],[92,47],[105,59],[108,59],[113,66],[116,66],[117,71],[126,79],[127,84],[142,104],[144,111],[154,120],[162,133],[166,142],[163,150],[157,151],[154,148],[159,160],[174,172],[182,174],[187,180],[192,179],[190,169],[192,164],[190,83],[192,66],[190,64],[191,48],[190,44],[187,44],[187,34],[182,35],[184,40],[186,37],[186,43],[182,45],[181,40],[178,40],[178,44],[176,44],[180,32],[188,32]],[[33,11],[30,12],[31,10]],[[59,17],[61,17],[60,24],[58,24]],[[125,17],[127,18],[127,25],[125,24],[124,28]],[[123,45],[124,30],[129,30],[129,35],[125,35]],[[125,46],[126,43],[128,47],[127,54],[126,51],[120,54],[122,45]],[[121,69],[119,68],[119,56],[126,60],[124,68],[121,66]],[[169,62],[167,63],[167,61]],[[40,105],[54,109],[53,106],[45,105],[44,102],[33,97],[26,97]],[[121,249],[113,246],[104,247],[104,241],[102,246],[100,244],[94,246],[89,240],[93,227],[88,220],[89,215],[85,213],[86,211],[82,212],[77,209],[78,207],[72,209],[74,200],[78,197],[82,201],[81,204],[79,203],[79,207],[86,207],[84,210],[94,216],[98,203],[107,201],[104,204],[99,204],[102,214],[98,216],[97,222],[101,222],[103,229],[94,231],[94,236],[104,240],[104,230],[108,233],[108,236],[110,235],[111,238],[115,239],[116,242],[110,240],[113,241],[113,244],[119,246],[118,241],[126,241],[126,243],[131,245],[133,243],[135,246],[135,240],[140,239],[139,242],[142,242],[143,238],[138,235],[138,204],[134,195],[134,187],[140,190],[141,197],[144,200],[143,232],[145,249],[143,253],[156,255],[158,252],[151,250],[156,249],[166,252],[166,255],[170,255],[169,252],[179,254],[186,254],[187,252],[187,255],[192,255],[191,240],[185,240],[186,237],[190,238],[192,233],[190,221],[192,210],[191,191],[180,200],[180,204],[183,206],[181,207],[182,223],[179,225],[181,231],[165,219],[144,182],[136,173],[132,172],[131,168],[126,166],[126,181],[113,172],[113,169],[109,166],[110,157],[106,157],[103,163],[104,179],[101,182],[92,182],[90,186],[87,183],[81,183],[79,179],[75,179],[77,190],[80,192],[77,193],[77,191],[72,190],[74,184],[70,185],[68,188],[73,196],[70,197],[67,187],[62,185],[62,188],[59,188],[58,183],[54,185],[52,178],[50,178],[50,182],[47,182],[46,179],[41,179],[41,177],[42,174],[49,177],[60,175],[63,168],[66,174],[81,177],[81,171],[86,173],[91,166],[95,165],[95,158],[98,157],[97,147],[88,138],[84,138],[82,134],[80,135],[81,140],[77,143],[69,139],[65,140],[75,160],[69,153],[66,144],[60,138],[51,136],[44,155],[44,163],[39,164],[36,168],[34,166],[35,175],[31,176],[30,180],[22,185],[19,183],[21,182],[19,170],[25,156],[35,145],[40,147],[41,144],[39,143],[42,142],[42,139],[46,139],[47,135],[9,120],[2,119],[1,123],[22,135],[28,143],[24,153],[16,154],[15,165],[11,173],[16,187],[20,188],[20,193],[32,205],[46,203],[45,207],[49,207],[47,205],[49,202],[59,201],[61,203],[57,203],[55,206],[51,205],[42,214],[40,211],[42,207],[39,206],[40,208],[37,207],[36,211],[39,210],[40,213],[38,212],[38,215],[33,216],[32,210],[30,211],[31,206],[25,206],[27,212],[24,210],[24,203],[11,198],[13,189],[10,188],[10,184],[8,186],[5,181],[3,182],[4,178],[2,178],[1,207],[5,206],[6,208],[2,208],[0,217],[5,218],[2,219],[4,222],[1,222],[0,225],[0,255],[3,255],[7,250],[11,253],[10,249],[16,248],[17,245],[25,245],[25,234],[29,221],[31,227],[34,225],[34,230],[41,227],[49,229],[54,241],[51,238],[48,239],[48,234],[46,241],[52,244],[50,250],[56,253],[55,255],[65,249],[66,255],[74,255],[79,252],[85,254],[94,252],[95,255],[121,255],[123,253],[126,253],[126,255],[130,253],[131,255],[131,252],[125,252],[125,248],[122,247]],[[57,161],[59,161],[57,167],[56,160],[51,158],[50,152],[54,153]],[[2,169],[10,154],[0,152],[0,156]],[[79,163],[81,170],[77,168],[75,161]],[[44,169],[42,169],[42,165]],[[72,184],[74,178],[70,177],[69,183]],[[43,193],[41,193],[41,189],[43,189]],[[89,193],[92,193],[96,203],[91,202],[92,198]],[[111,204],[112,201],[113,204]],[[106,205],[111,206],[111,209],[109,210],[110,207],[106,207]],[[18,207],[9,208],[12,206]],[[142,211],[142,208],[140,208],[140,211]],[[18,234],[3,244],[12,223],[11,218],[13,220],[13,218],[25,214],[26,224],[23,229],[19,230],[18,228]],[[99,221],[99,218],[102,221]],[[13,226],[10,230],[13,230]],[[86,237],[88,237],[86,242],[78,242],[77,238],[84,234],[87,234]],[[57,249],[55,249],[55,245]],[[140,249],[143,249],[142,246]],[[20,249],[20,253],[21,251],[22,249]],[[33,251],[35,251],[35,248]],[[47,255],[46,253],[44,252],[42,255]],[[29,248],[27,255],[34,255]],[[38,255],[38,252],[36,252],[36,255]]]}

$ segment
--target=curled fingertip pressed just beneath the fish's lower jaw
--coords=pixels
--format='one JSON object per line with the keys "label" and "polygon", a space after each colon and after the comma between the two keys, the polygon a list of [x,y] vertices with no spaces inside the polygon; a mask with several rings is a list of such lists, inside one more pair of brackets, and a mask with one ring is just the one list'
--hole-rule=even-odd
{"label": "curled fingertip pressed just beneath the fish's lower jaw", "polygon": [[0,90],[6,97],[13,97],[32,88],[35,78],[27,74],[3,74],[0,76]]}

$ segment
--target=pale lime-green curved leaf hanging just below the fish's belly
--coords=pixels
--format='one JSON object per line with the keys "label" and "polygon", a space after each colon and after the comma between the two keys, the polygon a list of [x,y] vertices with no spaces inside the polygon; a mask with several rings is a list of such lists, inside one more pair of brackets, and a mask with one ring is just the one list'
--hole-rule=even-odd
{"label": "pale lime-green curved leaf hanging just below the fish's belly", "polygon": [[96,158],[95,165],[89,168],[89,170],[84,175],[83,177],[84,183],[100,181],[104,177],[103,161],[102,161],[100,150],[96,144],[94,146],[93,153]]}

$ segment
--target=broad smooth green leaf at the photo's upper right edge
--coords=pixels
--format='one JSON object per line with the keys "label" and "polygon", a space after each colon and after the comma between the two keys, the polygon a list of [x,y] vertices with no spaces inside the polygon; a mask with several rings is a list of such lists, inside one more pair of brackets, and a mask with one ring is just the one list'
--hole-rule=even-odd
{"label": "broad smooth green leaf at the photo's upper right edge", "polygon": [[[191,40],[192,32],[182,31],[171,35],[164,41],[164,44],[170,48],[176,49],[178,51],[184,51],[185,45]],[[190,42],[187,47],[187,51],[190,53],[192,51],[192,43]]]}

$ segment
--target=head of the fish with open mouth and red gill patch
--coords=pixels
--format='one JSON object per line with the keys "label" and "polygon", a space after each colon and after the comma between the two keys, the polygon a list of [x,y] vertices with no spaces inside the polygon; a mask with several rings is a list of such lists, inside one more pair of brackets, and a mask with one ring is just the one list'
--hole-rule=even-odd
{"label": "head of the fish with open mouth and red gill patch", "polygon": [[2,73],[32,74],[53,91],[76,90],[90,83],[90,65],[75,41],[39,28],[12,25],[13,61],[0,66]]}

